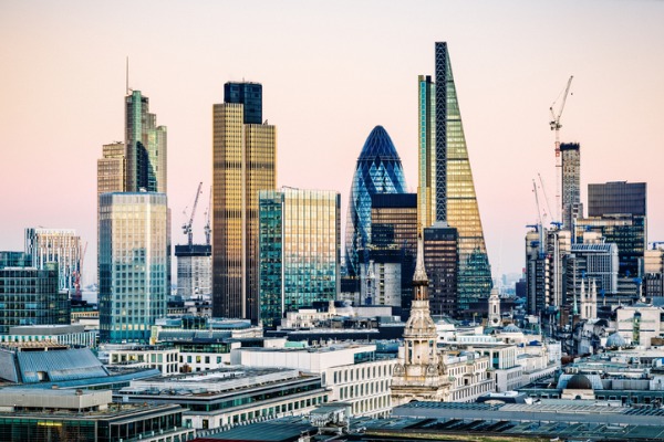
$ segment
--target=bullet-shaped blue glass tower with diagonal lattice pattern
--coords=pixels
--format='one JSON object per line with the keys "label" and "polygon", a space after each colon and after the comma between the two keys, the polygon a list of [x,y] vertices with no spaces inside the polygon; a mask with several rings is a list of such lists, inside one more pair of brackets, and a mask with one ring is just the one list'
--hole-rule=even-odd
{"label": "bullet-shaped blue glass tower with diagonal lattice pattern", "polygon": [[369,134],[357,158],[351,186],[345,235],[345,262],[349,276],[360,276],[361,251],[371,242],[371,196],[405,193],[406,179],[401,158],[383,126]]}

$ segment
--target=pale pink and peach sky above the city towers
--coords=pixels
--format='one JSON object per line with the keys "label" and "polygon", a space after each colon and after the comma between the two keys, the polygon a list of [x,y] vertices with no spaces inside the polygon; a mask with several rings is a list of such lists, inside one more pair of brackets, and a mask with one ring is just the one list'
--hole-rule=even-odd
{"label": "pale pink and peach sky above the city towers", "polygon": [[[263,114],[279,126],[278,187],[339,191],[345,220],[359,149],[383,125],[416,191],[417,76],[433,72],[434,43],[447,41],[494,276],[525,265],[538,172],[554,202],[549,106],[572,74],[561,140],[582,145],[581,201],[588,183],[645,181],[649,240],[664,239],[654,166],[664,2],[144,3],[136,18],[84,2],[1,4],[0,36],[12,44],[0,49],[0,250],[22,250],[28,227],[75,229],[89,243],[85,284],[96,275],[95,164],[102,145],[124,140],[126,56],[129,86],[168,126],[174,225],[196,185],[211,185],[210,106],[242,78],[263,85]],[[141,18],[148,10],[155,20]],[[247,12],[259,25],[242,39],[234,18]],[[185,242],[174,228],[173,244]]]}

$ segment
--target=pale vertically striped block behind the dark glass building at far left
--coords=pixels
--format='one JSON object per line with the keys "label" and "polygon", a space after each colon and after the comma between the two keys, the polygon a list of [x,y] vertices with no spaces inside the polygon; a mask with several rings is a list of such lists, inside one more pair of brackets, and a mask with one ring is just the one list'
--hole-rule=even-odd
{"label": "pale vertically striped block behind the dark glass building at far left", "polygon": [[58,263],[58,290],[73,295],[81,271],[81,236],[72,229],[25,229],[25,253],[32,266],[44,270]]}

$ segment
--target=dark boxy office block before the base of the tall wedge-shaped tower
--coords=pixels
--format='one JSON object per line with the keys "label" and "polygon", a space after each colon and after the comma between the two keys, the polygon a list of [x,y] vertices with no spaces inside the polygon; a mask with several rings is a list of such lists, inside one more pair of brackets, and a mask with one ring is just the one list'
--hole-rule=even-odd
{"label": "dark boxy office block before the base of the tall wedge-shaped tower", "polygon": [[458,313],[458,231],[435,223],[424,229],[424,264],[429,281],[432,315]]}

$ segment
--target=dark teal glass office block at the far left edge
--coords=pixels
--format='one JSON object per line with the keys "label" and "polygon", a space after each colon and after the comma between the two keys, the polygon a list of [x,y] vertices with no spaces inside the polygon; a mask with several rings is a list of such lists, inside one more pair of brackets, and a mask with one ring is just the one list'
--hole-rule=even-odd
{"label": "dark teal glass office block at the far left edge", "polygon": [[68,325],[68,292],[59,288],[58,263],[43,269],[17,252],[0,252],[0,334],[19,325]]}

